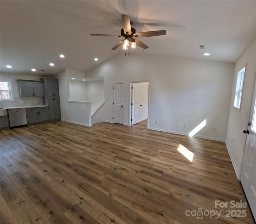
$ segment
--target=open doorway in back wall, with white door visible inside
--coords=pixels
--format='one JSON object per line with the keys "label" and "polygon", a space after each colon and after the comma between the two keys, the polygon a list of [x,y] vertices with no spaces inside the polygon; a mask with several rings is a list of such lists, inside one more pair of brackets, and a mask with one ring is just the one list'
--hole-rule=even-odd
{"label": "open doorway in back wall, with white door visible inside", "polygon": [[146,128],[148,128],[148,90],[149,82],[130,83],[129,125],[142,122],[140,126],[145,126],[146,123]]}

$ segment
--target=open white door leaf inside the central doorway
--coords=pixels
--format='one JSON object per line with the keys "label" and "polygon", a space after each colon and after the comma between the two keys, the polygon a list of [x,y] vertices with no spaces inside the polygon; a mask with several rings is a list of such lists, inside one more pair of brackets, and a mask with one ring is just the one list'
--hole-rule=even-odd
{"label": "open white door leaf inside the central doorway", "polygon": [[141,121],[140,119],[140,83],[132,83],[132,125]]}

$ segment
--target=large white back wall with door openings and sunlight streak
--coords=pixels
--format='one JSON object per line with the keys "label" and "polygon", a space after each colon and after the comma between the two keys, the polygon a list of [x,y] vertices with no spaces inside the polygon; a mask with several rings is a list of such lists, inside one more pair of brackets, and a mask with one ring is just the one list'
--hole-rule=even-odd
{"label": "large white back wall with door openings and sunlight streak", "polygon": [[124,82],[126,124],[130,82],[149,82],[150,129],[189,134],[206,119],[197,136],[222,141],[226,139],[233,75],[234,63],[133,53],[119,54],[86,72],[86,78],[104,77],[105,121],[113,118],[113,82]]}

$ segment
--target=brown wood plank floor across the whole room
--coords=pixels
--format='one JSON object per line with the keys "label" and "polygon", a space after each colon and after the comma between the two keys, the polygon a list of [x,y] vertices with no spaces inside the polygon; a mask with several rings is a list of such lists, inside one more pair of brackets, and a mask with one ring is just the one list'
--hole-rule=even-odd
{"label": "brown wood plank floor across the whole room", "polygon": [[246,202],[223,142],[145,122],[1,131],[1,224],[253,223],[216,200]]}

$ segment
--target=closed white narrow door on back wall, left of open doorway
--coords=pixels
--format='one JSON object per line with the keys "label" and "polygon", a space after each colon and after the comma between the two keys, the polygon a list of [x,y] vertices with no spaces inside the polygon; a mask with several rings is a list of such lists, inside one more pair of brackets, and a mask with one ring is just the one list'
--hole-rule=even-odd
{"label": "closed white narrow door on back wall, left of open doorway", "polygon": [[114,123],[123,124],[124,122],[124,107],[123,107],[123,83],[113,84],[114,90]]}

